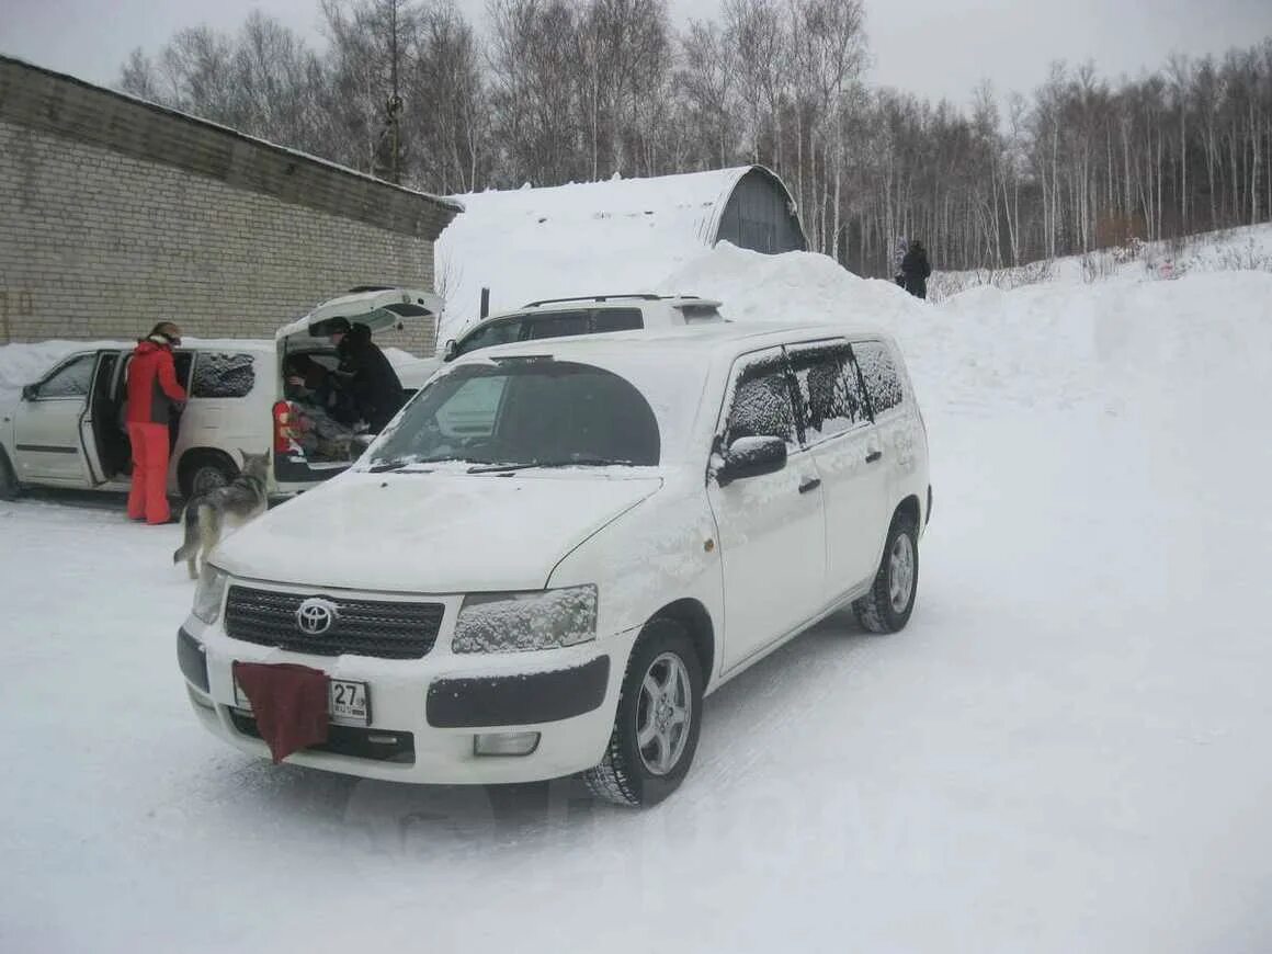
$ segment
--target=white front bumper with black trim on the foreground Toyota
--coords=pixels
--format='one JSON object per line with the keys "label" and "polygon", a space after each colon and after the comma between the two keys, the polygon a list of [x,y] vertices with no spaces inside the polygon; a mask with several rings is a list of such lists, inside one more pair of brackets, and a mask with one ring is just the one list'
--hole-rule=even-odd
{"label": "white front bumper with black trim on the foreground Toyota", "polygon": [[[365,682],[370,722],[332,725],[326,745],[286,762],[365,778],[481,785],[557,778],[599,763],[635,637],[481,655],[452,654],[449,640],[439,639],[422,659],[315,656],[232,640],[191,617],[178,632],[177,656],[198,720],[243,752],[270,756],[251,714],[234,705],[234,661],[299,663]],[[478,733],[525,731],[539,733],[530,754],[474,753]]]}

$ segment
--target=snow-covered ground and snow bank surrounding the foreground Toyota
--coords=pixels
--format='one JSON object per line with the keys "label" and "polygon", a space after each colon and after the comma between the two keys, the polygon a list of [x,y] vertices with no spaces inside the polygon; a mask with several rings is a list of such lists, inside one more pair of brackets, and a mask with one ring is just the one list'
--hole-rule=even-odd
{"label": "snow-covered ground and snow bank surrounding the foreground Toyota", "polygon": [[681,279],[899,336],[936,494],[904,632],[725,687],[654,810],[355,781],[195,722],[176,528],[0,504],[0,949],[1272,948],[1272,275]]}

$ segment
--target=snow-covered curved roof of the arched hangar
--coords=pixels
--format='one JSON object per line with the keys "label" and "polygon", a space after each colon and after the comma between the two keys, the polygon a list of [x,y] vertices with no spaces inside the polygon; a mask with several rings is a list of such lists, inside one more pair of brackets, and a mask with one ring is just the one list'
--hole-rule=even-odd
{"label": "snow-covered curved roof of the arched hangar", "polygon": [[654,290],[714,242],[729,196],[753,168],[452,196],[464,214],[438,239],[435,268],[446,333],[477,319],[482,287],[491,312]]}

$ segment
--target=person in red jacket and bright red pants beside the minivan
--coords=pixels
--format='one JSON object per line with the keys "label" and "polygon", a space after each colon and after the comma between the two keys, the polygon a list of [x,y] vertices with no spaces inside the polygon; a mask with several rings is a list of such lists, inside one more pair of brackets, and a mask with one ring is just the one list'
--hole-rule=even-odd
{"label": "person in red jacket and bright red pants beside the minivan", "polygon": [[149,524],[168,523],[168,425],[173,411],[186,402],[177,383],[172,349],[181,343],[181,328],[160,322],[137,342],[128,363],[128,440],[132,443],[132,488],[128,518]]}

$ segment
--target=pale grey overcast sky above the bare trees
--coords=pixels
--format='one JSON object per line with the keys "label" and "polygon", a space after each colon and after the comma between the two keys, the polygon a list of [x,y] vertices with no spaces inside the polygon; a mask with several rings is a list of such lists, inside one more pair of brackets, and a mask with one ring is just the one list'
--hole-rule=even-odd
{"label": "pale grey overcast sky above the bare trees", "polygon": [[[457,0],[480,22],[485,0]],[[669,0],[678,24],[719,0]],[[1030,92],[1052,60],[1095,61],[1117,78],[1172,51],[1220,53],[1272,36],[1272,0],[865,0],[870,79],[930,98],[971,99],[982,79]],[[153,52],[181,27],[233,29],[253,8],[322,42],[318,0],[0,0],[0,52],[112,83],[136,46]]]}

